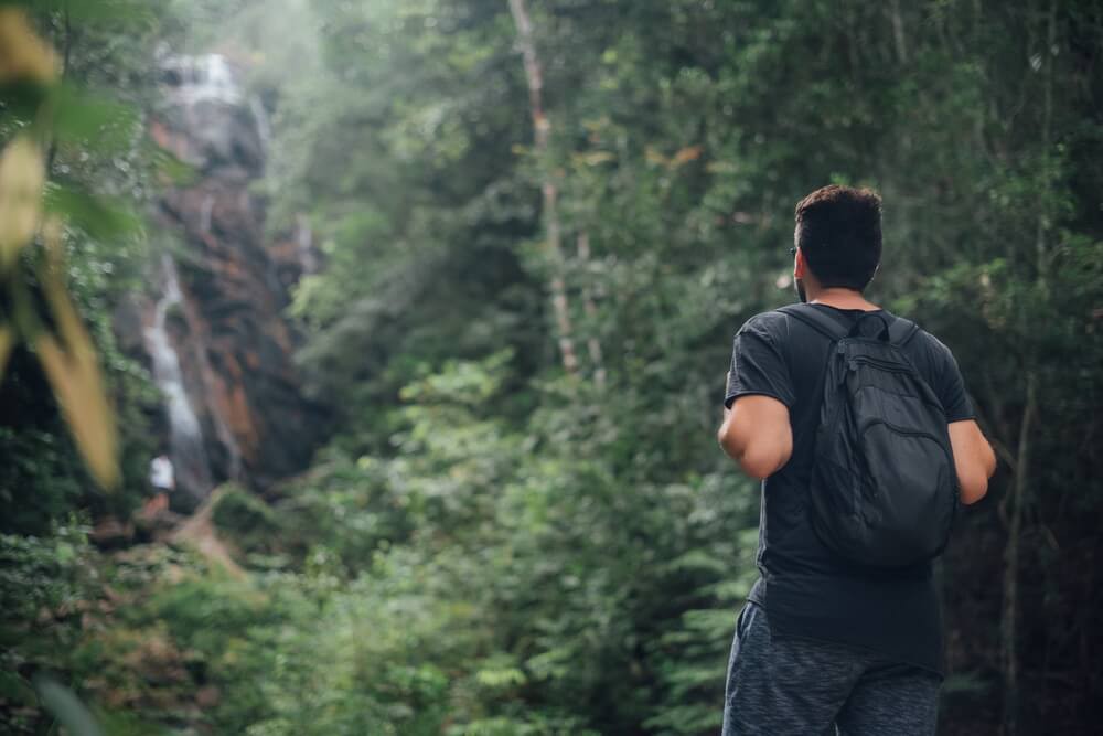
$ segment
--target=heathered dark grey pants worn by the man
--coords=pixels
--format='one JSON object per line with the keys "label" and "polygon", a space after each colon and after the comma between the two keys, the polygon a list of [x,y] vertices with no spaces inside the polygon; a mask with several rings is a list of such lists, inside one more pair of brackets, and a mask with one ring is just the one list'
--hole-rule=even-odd
{"label": "heathered dark grey pants worn by the man", "polygon": [[845,644],[773,638],[765,610],[748,602],[731,644],[722,736],[930,736],[941,682]]}

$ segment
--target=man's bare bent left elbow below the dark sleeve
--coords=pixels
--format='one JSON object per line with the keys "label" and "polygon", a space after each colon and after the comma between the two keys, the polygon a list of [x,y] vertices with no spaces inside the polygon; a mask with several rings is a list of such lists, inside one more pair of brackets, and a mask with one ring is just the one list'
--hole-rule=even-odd
{"label": "man's bare bent left elbow below the dark sleeve", "polygon": [[724,410],[716,439],[748,476],[772,476],[793,454],[789,407],[773,396],[739,396]]}

